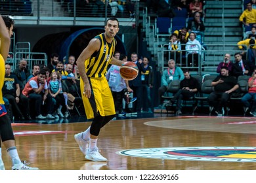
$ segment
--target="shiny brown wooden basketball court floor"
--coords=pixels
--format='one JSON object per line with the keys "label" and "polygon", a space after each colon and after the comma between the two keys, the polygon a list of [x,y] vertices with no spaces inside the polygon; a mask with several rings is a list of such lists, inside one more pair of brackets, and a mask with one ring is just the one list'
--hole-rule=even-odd
{"label": "shiny brown wooden basketball court floor", "polygon": [[[87,161],[74,135],[91,122],[62,124],[13,124],[20,159],[42,170],[249,170],[252,162],[190,161],[137,158],[117,154],[121,150],[173,147],[255,147],[256,120],[251,117],[158,116],[113,120],[100,132],[98,148],[107,162]],[[78,120],[77,120],[78,121]],[[11,160],[2,146],[6,169]],[[253,153],[251,158],[255,159]]]}

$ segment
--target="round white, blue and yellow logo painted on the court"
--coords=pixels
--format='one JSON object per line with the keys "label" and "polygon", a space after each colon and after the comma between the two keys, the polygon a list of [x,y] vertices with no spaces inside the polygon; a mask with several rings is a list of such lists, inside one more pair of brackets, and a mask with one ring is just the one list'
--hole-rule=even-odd
{"label": "round white, blue and yellow logo painted on the court", "polygon": [[173,147],[140,148],[116,152],[137,158],[185,161],[256,162],[256,147]]}

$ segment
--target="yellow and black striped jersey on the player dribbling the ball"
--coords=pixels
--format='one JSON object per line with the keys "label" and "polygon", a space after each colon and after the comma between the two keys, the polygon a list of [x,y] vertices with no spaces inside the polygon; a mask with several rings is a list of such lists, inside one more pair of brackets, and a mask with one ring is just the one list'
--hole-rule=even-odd
{"label": "yellow and black striped jersey on the player dribbling the ball", "polygon": [[97,35],[95,38],[100,40],[100,50],[94,52],[91,58],[85,60],[85,71],[88,77],[102,78],[106,76],[108,64],[114,55],[116,39],[108,43],[104,33]]}

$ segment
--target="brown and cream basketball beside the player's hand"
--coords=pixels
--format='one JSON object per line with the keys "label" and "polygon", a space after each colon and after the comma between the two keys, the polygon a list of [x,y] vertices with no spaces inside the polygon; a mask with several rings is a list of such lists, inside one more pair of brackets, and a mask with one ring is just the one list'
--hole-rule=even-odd
{"label": "brown and cream basketball beside the player's hand", "polygon": [[133,80],[137,77],[139,69],[135,63],[132,61],[127,61],[123,63],[120,67],[120,75],[125,80]]}

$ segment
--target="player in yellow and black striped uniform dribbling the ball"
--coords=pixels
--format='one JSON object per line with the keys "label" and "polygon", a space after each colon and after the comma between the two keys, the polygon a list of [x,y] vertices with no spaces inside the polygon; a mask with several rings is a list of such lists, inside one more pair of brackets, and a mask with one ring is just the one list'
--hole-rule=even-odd
{"label": "player in yellow and black striped uniform dribbling the ball", "polygon": [[119,66],[124,63],[113,57],[116,47],[114,37],[119,31],[117,18],[109,18],[104,29],[104,33],[91,39],[77,59],[85,114],[87,119],[93,118],[93,122],[87,130],[74,137],[81,152],[85,154],[85,159],[91,161],[107,161],[98,152],[96,142],[100,129],[116,114],[112,93],[105,77],[106,68],[110,63]]}

